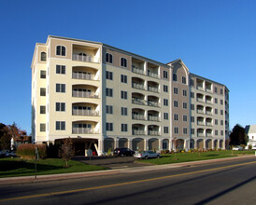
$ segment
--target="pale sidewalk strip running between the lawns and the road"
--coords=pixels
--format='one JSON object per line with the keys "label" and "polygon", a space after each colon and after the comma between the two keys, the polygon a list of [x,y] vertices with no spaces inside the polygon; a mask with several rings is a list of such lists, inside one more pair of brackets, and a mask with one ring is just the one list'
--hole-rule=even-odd
{"label": "pale sidewalk strip running between the lawns and the road", "polygon": [[47,182],[47,181],[53,181],[53,180],[78,179],[78,178],[92,177],[92,176],[106,176],[106,175],[121,174],[121,173],[125,174],[125,173],[135,173],[135,172],[143,172],[143,171],[165,170],[165,169],[173,169],[173,168],[188,167],[188,166],[199,166],[199,165],[205,165],[205,164],[215,163],[220,161],[232,161],[232,160],[246,158],[246,157],[255,157],[255,156],[216,158],[216,159],[208,159],[208,160],[200,160],[200,161],[192,161],[192,162],[182,162],[182,163],[165,164],[165,165],[152,165],[152,166],[143,166],[143,167],[107,170],[107,171],[87,171],[87,172],[38,175],[36,176],[36,178],[35,176],[7,177],[7,178],[0,178],[0,185],[15,185],[15,184],[23,184],[23,183]]}

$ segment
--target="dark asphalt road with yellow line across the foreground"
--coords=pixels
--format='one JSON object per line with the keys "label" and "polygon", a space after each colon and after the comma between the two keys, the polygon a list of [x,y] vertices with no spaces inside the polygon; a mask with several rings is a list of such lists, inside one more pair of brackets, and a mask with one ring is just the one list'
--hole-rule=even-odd
{"label": "dark asphalt road with yellow line across the foreground", "polygon": [[162,171],[0,185],[0,204],[256,204],[256,158]]}

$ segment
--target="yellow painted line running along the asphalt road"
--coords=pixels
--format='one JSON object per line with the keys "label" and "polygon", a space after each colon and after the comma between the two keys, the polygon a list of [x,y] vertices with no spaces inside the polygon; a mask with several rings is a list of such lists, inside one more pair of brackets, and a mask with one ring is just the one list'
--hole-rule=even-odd
{"label": "yellow painted line running along the asphalt road", "polygon": [[16,198],[2,198],[2,199],[0,199],[0,202],[8,201],[8,200],[26,199],[26,198],[50,197],[50,196],[55,196],[55,195],[63,195],[63,194],[70,194],[70,193],[89,191],[89,190],[95,190],[95,189],[101,189],[101,188],[109,188],[109,187],[114,187],[114,186],[119,186],[119,185],[133,185],[133,184],[151,182],[151,181],[162,180],[162,179],[167,179],[167,178],[172,178],[172,177],[185,176],[185,175],[190,175],[190,174],[194,174],[194,173],[202,173],[202,172],[206,172],[206,171],[218,171],[221,169],[239,167],[239,166],[249,165],[249,164],[254,164],[254,163],[256,163],[256,161],[235,164],[235,165],[229,165],[229,166],[224,166],[224,167],[220,167],[220,168],[212,168],[212,169],[207,169],[207,170],[202,170],[202,171],[191,171],[191,172],[185,172],[185,173],[178,173],[178,174],[173,174],[173,175],[167,175],[167,176],[161,176],[161,177],[155,177],[155,178],[150,178],[150,179],[137,180],[137,181],[119,183],[119,184],[113,184],[113,185],[100,185],[100,186],[89,187],[89,188],[80,188],[80,189],[74,189],[74,190],[59,191],[59,192],[30,195],[30,196],[23,196],[23,197],[16,197]]}

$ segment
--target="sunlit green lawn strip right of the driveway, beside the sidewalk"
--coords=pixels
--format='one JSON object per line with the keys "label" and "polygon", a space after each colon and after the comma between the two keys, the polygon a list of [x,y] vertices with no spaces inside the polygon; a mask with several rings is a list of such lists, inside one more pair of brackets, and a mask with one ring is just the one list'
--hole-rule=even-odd
{"label": "sunlit green lawn strip right of the driveway, beside the sidewalk", "polygon": [[[233,154],[233,155],[232,155]],[[255,151],[233,151],[232,150],[223,150],[223,151],[210,151],[210,152],[201,152],[201,153],[177,153],[177,154],[163,154],[161,158],[152,158],[148,160],[138,159],[137,162],[149,163],[149,164],[172,164],[178,162],[187,162],[187,161],[197,161],[197,160],[206,160],[213,158],[223,158],[223,157],[235,157],[243,155],[254,155]]]}

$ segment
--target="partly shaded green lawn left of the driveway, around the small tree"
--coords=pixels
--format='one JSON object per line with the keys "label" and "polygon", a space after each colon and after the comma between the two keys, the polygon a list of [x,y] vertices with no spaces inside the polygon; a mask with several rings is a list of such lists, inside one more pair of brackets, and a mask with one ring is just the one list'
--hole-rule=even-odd
{"label": "partly shaded green lawn left of the driveway, around the small tree", "polygon": [[[68,168],[64,168],[64,160],[61,158],[41,159],[37,162],[37,175],[105,170],[100,166],[87,165],[74,160],[70,160],[68,165]],[[0,177],[29,175],[35,175],[35,160],[0,158]]]}

